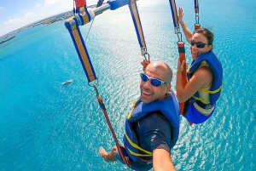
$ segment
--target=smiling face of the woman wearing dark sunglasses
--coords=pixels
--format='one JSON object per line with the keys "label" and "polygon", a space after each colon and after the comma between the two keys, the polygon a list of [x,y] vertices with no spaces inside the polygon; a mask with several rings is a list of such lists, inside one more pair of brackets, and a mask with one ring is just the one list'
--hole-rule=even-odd
{"label": "smiling face of the woman wearing dark sunglasses", "polygon": [[201,33],[195,33],[190,40],[190,51],[193,60],[196,60],[201,53],[207,53],[212,49],[212,45],[208,45],[207,37]]}

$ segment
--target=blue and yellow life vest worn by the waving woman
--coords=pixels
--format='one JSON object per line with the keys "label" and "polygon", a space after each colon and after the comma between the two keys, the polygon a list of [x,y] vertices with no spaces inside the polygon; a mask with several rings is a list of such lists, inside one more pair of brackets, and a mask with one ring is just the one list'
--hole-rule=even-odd
{"label": "blue and yellow life vest worn by the waving woman", "polygon": [[[188,80],[193,76],[194,72],[198,69],[198,67],[201,65],[202,61],[206,61],[207,65],[211,68],[212,74],[213,74],[213,81],[211,88],[207,91],[207,93],[210,95],[210,101],[205,102],[199,98],[198,92],[196,92],[191,98],[190,103],[197,103],[201,106],[201,108],[204,109],[210,109],[218,100],[221,88],[222,88],[222,79],[223,79],[223,69],[220,60],[214,54],[212,51],[208,53],[200,54],[196,60],[192,61],[191,66],[189,67],[189,70],[187,71],[187,77]],[[203,102],[203,103],[202,103]]]}

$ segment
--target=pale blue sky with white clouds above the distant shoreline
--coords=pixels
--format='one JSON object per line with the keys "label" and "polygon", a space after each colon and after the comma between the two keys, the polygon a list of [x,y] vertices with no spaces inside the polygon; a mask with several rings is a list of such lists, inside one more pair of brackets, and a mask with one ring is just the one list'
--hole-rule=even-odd
{"label": "pale blue sky with white clouds above the distant shoreline", "polygon": [[[98,0],[86,0],[87,6]],[[73,0],[1,0],[0,37],[38,20],[73,10]]]}

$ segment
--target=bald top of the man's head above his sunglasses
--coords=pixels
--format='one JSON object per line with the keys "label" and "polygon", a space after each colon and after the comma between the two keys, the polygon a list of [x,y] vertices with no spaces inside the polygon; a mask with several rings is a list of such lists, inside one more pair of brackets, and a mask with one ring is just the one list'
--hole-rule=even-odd
{"label": "bald top of the man's head above his sunglasses", "polygon": [[154,72],[154,74],[159,75],[159,78],[166,83],[172,82],[172,69],[166,63],[161,61],[153,61],[148,64],[145,69],[145,73]]}

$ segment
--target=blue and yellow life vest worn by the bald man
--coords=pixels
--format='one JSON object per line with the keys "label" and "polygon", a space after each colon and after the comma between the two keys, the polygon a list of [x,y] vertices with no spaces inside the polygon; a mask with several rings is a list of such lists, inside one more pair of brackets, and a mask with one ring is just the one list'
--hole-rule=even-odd
{"label": "blue and yellow life vest worn by the bald man", "polygon": [[177,142],[179,133],[179,106],[176,95],[173,92],[168,92],[166,94],[166,100],[154,100],[148,104],[137,100],[133,105],[133,110],[126,119],[124,136],[125,151],[134,162],[138,159],[143,162],[152,161],[152,151],[146,151],[138,146],[137,136],[131,125],[131,123],[138,121],[152,111],[161,111],[170,123],[172,133],[170,149]]}

